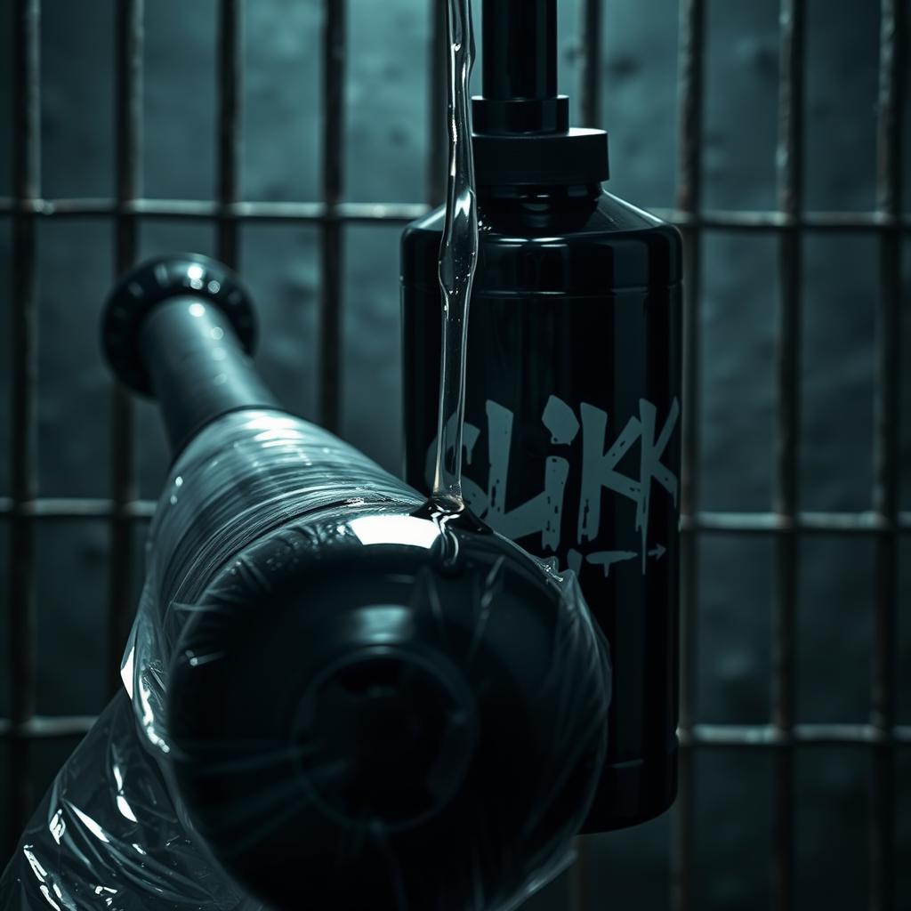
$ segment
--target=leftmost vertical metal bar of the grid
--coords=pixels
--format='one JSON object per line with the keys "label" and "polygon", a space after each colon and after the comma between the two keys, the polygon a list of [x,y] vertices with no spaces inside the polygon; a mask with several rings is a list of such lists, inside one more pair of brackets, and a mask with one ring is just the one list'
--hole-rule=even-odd
{"label": "leftmost vertical metal bar of the grid", "polygon": [[9,363],[12,368],[10,466],[13,513],[9,550],[10,691],[13,740],[9,757],[10,852],[32,807],[28,741],[16,727],[35,712],[35,538],[23,505],[37,493],[37,289],[36,222],[28,201],[40,196],[39,0],[15,0],[13,22],[13,216],[12,313]]}

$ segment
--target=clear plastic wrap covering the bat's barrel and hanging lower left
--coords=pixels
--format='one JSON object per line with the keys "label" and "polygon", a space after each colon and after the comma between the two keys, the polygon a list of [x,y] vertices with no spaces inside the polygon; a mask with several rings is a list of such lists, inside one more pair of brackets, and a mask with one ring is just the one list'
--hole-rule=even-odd
{"label": "clear plastic wrap covering the bat's barrel and hanging lower left", "polygon": [[[506,911],[571,863],[604,755],[607,645],[574,577],[489,531],[455,535],[462,577],[437,572],[449,533],[413,515],[421,505],[298,418],[242,411],[204,429],[172,467],[152,523],[124,691],[40,804],[0,880],[0,907],[252,909],[263,906],[248,895],[253,883],[271,906]],[[435,711],[427,681],[440,681],[449,711],[440,742],[455,745],[427,765],[435,777],[420,812],[384,816],[392,811],[368,794],[355,818],[338,776],[363,774],[370,756],[353,771],[314,771],[308,751],[328,748],[314,740],[311,715],[293,722],[278,752],[278,735],[261,732],[278,725],[284,737],[281,707],[315,698],[301,618],[345,615],[349,589],[362,590],[352,602],[360,609],[372,574],[397,584],[411,563],[405,583],[436,650],[426,654],[439,656],[424,670],[420,656],[409,665],[418,668],[412,691]],[[301,594],[302,579],[317,581]],[[527,617],[524,599],[534,605]],[[525,638],[510,642],[512,628]],[[371,635],[371,649],[387,649],[382,630]],[[298,651],[300,660],[289,657]],[[442,667],[446,654],[465,659],[457,680]],[[455,708],[445,702],[452,693]],[[427,727],[432,714],[422,718]],[[390,769],[413,761],[395,758]],[[407,803],[415,793],[407,776],[400,784]],[[353,898],[374,892],[375,902]]]}

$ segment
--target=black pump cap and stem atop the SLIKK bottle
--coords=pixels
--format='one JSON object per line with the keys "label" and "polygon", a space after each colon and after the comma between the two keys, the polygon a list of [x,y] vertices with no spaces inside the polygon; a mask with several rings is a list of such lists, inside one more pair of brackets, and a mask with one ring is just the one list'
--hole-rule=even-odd
{"label": "black pump cap and stem atop the SLIKK bottle", "polygon": [[557,0],[485,0],[484,96],[472,103],[477,182],[608,179],[607,134],[570,129],[557,94]]}

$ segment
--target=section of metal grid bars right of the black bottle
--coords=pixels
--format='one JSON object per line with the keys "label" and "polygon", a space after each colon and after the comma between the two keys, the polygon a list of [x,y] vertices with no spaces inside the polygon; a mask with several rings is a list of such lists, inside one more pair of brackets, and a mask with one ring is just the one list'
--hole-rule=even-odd
{"label": "section of metal grid bars right of the black bottle", "polygon": [[[798,745],[865,745],[873,750],[870,773],[871,911],[895,906],[895,747],[911,743],[911,728],[896,726],[897,546],[909,529],[898,510],[900,246],[908,227],[901,215],[901,109],[905,66],[904,5],[882,0],[878,106],[877,210],[863,215],[804,212],[803,137],[805,0],[781,0],[778,210],[739,213],[729,218],[700,205],[702,72],[705,57],[705,2],[682,0],[680,36],[680,165],[678,212],[667,213],[684,234],[684,471],[681,548],[681,792],[674,809],[671,850],[671,906],[693,907],[694,748],[770,748],[773,757],[772,906],[793,906],[793,762]],[[775,353],[777,424],[773,512],[711,514],[699,509],[699,301],[700,236],[705,229],[772,230],[779,242],[779,309]],[[798,440],[801,324],[801,241],[806,230],[875,231],[880,239],[875,386],[875,486],[873,510],[856,514],[799,511]],[[696,538],[705,533],[767,534],[775,542],[772,622],[772,719],[765,726],[706,725],[693,714],[696,660]],[[797,724],[794,719],[797,570],[803,535],[813,533],[875,537],[874,680],[870,722]]]}

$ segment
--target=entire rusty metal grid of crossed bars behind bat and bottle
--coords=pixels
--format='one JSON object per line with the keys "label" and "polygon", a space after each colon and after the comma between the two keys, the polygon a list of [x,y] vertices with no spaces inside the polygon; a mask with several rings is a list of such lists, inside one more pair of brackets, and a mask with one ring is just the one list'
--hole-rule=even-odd
{"label": "entire rusty metal grid of crossed bars behind bat and bottle", "polygon": [[[870,911],[895,906],[895,747],[911,745],[911,727],[896,726],[896,599],[898,536],[911,531],[911,514],[898,509],[898,380],[900,352],[900,248],[911,220],[901,210],[901,110],[906,67],[906,5],[881,0],[880,88],[878,106],[877,208],[864,213],[806,212],[802,193],[802,136],[805,0],[781,0],[780,130],[778,208],[773,211],[705,210],[701,205],[703,70],[707,0],[680,2],[678,192],[673,210],[658,214],[678,224],[684,237],[684,380],[681,547],[681,789],[671,827],[671,893],[674,911],[690,911],[693,898],[695,833],[694,754],[717,747],[767,749],[773,758],[773,908],[787,911],[793,895],[793,757],[800,745],[855,744],[871,752]],[[114,199],[46,200],[39,183],[40,0],[13,0],[13,197],[0,199],[0,217],[13,228],[13,310],[9,340],[13,403],[11,411],[12,486],[0,497],[0,519],[9,523],[9,719],[0,719],[0,741],[8,742],[9,806],[5,847],[26,823],[29,792],[28,749],[35,738],[87,730],[89,718],[35,715],[35,548],[36,521],[96,518],[111,533],[109,571],[109,654],[116,669],[128,618],[131,565],[129,538],[137,523],[151,516],[154,503],[136,499],[128,398],[113,393],[112,480],[109,499],[46,499],[37,496],[36,478],[36,221],[96,217],[115,226],[117,271],[137,253],[143,220],[203,220],[217,227],[218,255],[229,264],[239,257],[241,222],[314,223],[322,230],[322,309],[320,329],[320,415],[337,429],[341,412],[343,327],[343,229],[346,224],[405,224],[443,197],[445,173],[444,62],[445,5],[430,0],[429,167],[426,200],[363,204],[343,201],[344,77],[347,0],[324,0],[322,30],[322,200],[249,202],[241,198],[241,79],[243,0],[219,0],[217,180],[213,200],[148,200],[140,186],[142,170],[141,87],[144,0],[118,0],[116,38],[117,192]],[[609,15],[604,0],[579,0],[579,54],[582,120],[599,125],[601,22]],[[700,509],[700,299],[701,238],[705,230],[773,234],[780,260],[778,345],[776,351],[777,427],[773,509],[765,513],[712,513]],[[798,356],[801,322],[801,241],[805,231],[864,231],[878,238],[880,294],[877,304],[875,400],[875,489],[864,513],[801,511],[797,490]],[[697,548],[702,536],[761,535],[775,541],[773,679],[770,723],[760,726],[697,723],[694,712],[696,617],[699,598]],[[870,717],[867,724],[800,724],[794,717],[794,617],[801,539],[808,535],[849,535],[875,541],[875,636]],[[114,671],[112,670],[112,682]],[[582,844],[582,859],[586,852]],[[574,908],[593,907],[584,865],[570,884]]]}

